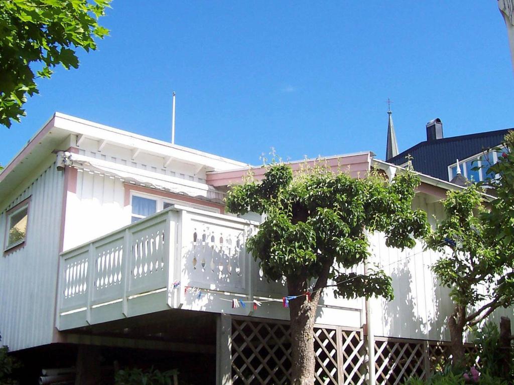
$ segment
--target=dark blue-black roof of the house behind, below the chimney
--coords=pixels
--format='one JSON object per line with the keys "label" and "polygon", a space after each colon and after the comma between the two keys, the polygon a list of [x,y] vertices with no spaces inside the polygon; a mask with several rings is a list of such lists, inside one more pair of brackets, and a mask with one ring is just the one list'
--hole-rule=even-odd
{"label": "dark blue-black roof of the house behind, below the chimney", "polygon": [[456,159],[463,160],[484,149],[498,146],[509,129],[420,142],[389,159],[388,163],[404,164],[410,154],[414,170],[447,181],[450,164],[455,163]]}

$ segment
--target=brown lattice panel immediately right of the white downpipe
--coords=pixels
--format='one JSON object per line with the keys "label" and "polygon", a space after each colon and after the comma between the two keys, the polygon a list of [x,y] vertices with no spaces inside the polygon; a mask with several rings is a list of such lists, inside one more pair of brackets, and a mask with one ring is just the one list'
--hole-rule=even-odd
{"label": "brown lattice panel immediately right of the white downpipe", "polygon": [[423,342],[375,341],[376,380],[381,385],[401,384],[409,377],[425,378]]}

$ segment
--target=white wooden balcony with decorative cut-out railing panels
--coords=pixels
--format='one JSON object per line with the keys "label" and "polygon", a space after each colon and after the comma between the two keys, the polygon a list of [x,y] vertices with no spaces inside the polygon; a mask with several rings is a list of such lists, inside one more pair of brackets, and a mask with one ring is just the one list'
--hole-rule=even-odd
{"label": "white wooden balcony with decorative cut-out railing panels", "polygon": [[[170,309],[287,319],[284,283],[267,282],[245,248],[257,228],[174,205],[63,252],[56,326],[65,331]],[[233,299],[244,305],[232,308]],[[254,299],[262,302],[256,310]],[[326,293],[320,307],[318,322],[344,316],[360,326],[361,300]]]}

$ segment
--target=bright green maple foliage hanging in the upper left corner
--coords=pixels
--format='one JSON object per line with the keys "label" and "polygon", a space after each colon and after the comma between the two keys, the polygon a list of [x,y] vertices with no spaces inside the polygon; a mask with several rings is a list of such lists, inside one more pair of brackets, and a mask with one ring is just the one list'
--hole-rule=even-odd
{"label": "bright green maple foliage hanging in the upper left corner", "polygon": [[50,78],[59,64],[78,68],[78,47],[96,49],[94,37],[108,33],[97,20],[110,1],[0,2],[0,124],[25,116],[27,95],[39,93],[36,78]]}

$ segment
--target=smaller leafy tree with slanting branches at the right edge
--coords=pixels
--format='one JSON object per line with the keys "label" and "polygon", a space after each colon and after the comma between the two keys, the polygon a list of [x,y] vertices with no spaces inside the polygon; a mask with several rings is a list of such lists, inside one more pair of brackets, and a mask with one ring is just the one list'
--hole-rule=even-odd
{"label": "smaller leafy tree with slanting branches at the right edge", "polygon": [[514,303],[513,164],[512,153],[506,153],[489,167],[499,178],[487,182],[498,196],[487,207],[478,185],[448,192],[446,219],[427,237],[429,247],[445,253],[432,270],[451,289],[454,307],[447,323],[454,365],[464,364],[464,330]]}

